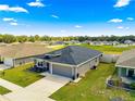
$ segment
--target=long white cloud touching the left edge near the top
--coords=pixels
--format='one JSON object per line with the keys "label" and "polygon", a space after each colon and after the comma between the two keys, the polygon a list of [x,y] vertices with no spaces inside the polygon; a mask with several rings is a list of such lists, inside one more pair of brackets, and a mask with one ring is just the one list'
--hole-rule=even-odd
{"label": "long white cloud touching the left edge near the top", "polygon": [[11,12],[25,12],[28,13],[28,11],[21,7],[9,7],[8,4],[0,4],[0,11],[11,11]]}

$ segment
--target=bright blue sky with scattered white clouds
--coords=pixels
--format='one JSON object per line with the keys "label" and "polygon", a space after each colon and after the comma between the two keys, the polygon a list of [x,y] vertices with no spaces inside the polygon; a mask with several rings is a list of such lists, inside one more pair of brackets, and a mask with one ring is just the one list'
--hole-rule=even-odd
{"label": "bright blue sky with scattered white clouds", "polygon": [[0,0],[0,33],[135,35],[135,0]]}

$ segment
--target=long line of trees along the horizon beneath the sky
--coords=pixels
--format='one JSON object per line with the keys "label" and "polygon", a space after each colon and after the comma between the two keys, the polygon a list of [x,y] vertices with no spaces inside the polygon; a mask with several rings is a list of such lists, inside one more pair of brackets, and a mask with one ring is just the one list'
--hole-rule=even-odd
{"label": "long line of trees along the horizon beneath the sky", "polygon": [[135,41],[135,36],[99,36],[99,37],[89,37],[89,36],[69,36],[69,37],[51,37],[51,36],[14,36],[10,34],[0,35],[0,42],[12,43],[12,42],[35,42],[35,41],[119,41],[124,42],[125,40]]}

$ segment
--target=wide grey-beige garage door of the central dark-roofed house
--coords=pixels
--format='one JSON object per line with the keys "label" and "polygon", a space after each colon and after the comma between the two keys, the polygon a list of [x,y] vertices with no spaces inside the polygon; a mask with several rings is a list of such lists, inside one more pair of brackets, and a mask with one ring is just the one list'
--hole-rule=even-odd
{"label": "wide grey-beige garage door of the central dark-roofed house", "polygon": [[70,77],[70,78],[73,77],[72,67],[58,65],[58,64],[52,64],[52,74],[66,76],[66,77]]}

